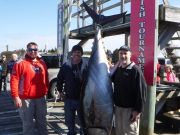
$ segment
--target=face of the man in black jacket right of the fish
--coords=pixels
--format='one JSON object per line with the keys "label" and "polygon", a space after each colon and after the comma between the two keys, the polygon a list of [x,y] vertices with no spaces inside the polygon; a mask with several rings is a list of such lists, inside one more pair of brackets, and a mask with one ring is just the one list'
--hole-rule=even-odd
{"label": "face of the man in black jacket right of the fish", "polygon": [[131,52],[130,51],[125,51],[125,50],[120,50],[119,51],[119,60],[124,65],[129,64],[130,61],[131,61]]}

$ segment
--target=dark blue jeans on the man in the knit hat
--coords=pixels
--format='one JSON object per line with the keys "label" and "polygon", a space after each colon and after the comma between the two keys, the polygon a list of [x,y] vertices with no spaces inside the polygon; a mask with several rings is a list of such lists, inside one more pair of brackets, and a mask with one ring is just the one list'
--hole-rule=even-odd
{"label": "dark blue jeans on the man in the knit hat", "polygon": [[76,135],[75,131],[75,116],[77,112],[80,130],[84,129],[83,111],[79,100],[66,99],[64,104],[65,110],[65,123],[68,127],[68,135]]}

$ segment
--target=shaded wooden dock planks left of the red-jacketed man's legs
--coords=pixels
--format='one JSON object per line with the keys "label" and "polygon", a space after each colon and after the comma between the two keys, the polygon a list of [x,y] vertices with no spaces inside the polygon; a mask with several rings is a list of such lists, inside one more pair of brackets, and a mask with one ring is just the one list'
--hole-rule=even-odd
{"label": "shaded wooden dock planks left of the red-jacketed man's legs", "polygon": [[22,122],[9,92],[0,93],[0,135],[22,135]]}

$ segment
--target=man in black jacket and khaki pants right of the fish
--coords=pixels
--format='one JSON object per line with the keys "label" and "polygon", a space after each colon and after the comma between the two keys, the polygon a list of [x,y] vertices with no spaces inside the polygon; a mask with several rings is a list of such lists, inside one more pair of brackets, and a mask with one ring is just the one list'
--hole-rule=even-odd
{"label": "man in black jacket and khaki pants right of the fish", "polygon": [[119,62],[112,73],[116,135],[139,134],[139,119],[146,100],[147,85],[143,73],[130,59],[130,48],[121,46]]}

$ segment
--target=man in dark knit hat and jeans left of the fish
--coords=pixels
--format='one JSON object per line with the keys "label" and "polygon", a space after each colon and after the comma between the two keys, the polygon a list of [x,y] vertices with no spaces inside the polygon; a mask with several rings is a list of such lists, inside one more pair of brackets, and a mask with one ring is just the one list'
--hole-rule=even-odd
{"label": "man in dark knit hat and jeans left of the fish", "polygon": [[[72,57],[62,65],[57,76],[57,89],[62,95],[65,92],[65,123],[68,127],[68,135],[75,135],[75,114],[77,112],[81,133],[84,130],[83,112],[81,109],[82,83],[87,69],[87,60],[82,59],[83,49],[79,45],[72,48]],[[64,87],[64,89],[63,89]]]}

